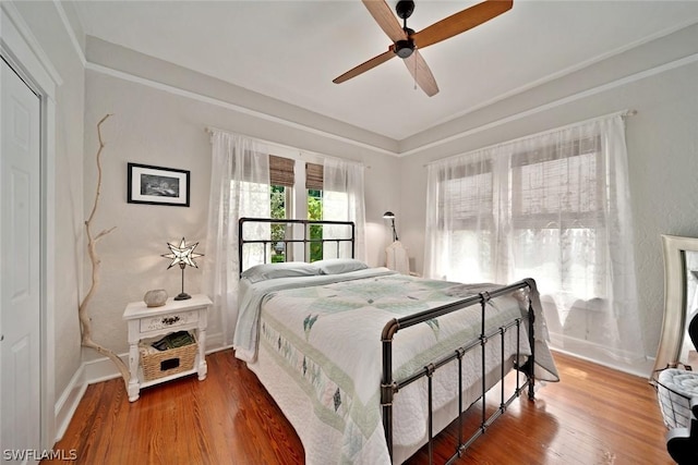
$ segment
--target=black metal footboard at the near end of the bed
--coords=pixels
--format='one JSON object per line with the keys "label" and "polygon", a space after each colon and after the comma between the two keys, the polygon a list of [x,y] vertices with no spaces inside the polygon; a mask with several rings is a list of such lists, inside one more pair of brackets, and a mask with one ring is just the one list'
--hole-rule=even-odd
{"label": "black metal footboard at the near end of the bed", "polygon": [[[498,296],[512,294],[519,290],[529,290],[528,295],[528,311],[525,316],[519,318],[515,318],[510,321],[507,321],[504,325],[498,326],[497,328],[486,329],[485,328],[485,309],[488,303]],[[421,311],[414,315],[410,315],[399,319],[390,320],[383,329],[383,333],[381,335],[382,346],[383,346],[383,374],[382,374],[382,382],[381,382],[381,406],[383,413],[383,428],[385,430],[385,438],[388,446],[388,452],[390,457],[393,457],[393,401],[395,394],[406,386],[417,381],[418,379],[426,377],[426,389],[428,389],[428,446],[429,446],[429,463],[431,464],[433,461],[433,387],[432,379],[434,372],[445,366],[446,364],[457,360],[458,364],[458,444],[454,454],[447,460],[447,464],[453,463],[457,457],[461,456],[466,449],[468,449],[480,436],[482,436],[485,430],[506,411],[508,405],[514,402],[515,399],[519,397],[524,390],[528,389],[529,399],[533,399],[534,396],[534,359],[535,359],[535,343],[534,343],[534,311],[532,302],[530,298],[530,292],[535,292],[535,285],[532,280],[524,280],[517,282],[515,284],[510,284],[503,287],[496,287],[489,292],[481,292],[477,295],[464,298],[458,302],[454,302],[452,304],[447,304],[437,308],[433,308],[430,310]],[[453,353],[446,354],[442,358],[437,360],[433,360],[432,363],[424,366],[422,369],[413,372],[412,375],[395,380],[393,379],[393,339],[395,334],[406,328],[418,325],[420,322],[428,321],[433,318],[437,318],[457,310],[460,310],[466,307],[480,305],[481,307],[481,330],[480,335],[470,341],[465,341],[462,345],[457,347]],[[530,347],[530,356],[527,362],[521,366],[517,366],[518,360],[520,360],[520,334],[521,334],[521,326],[525,325],[528,335],[528,345]],[[498,339],[501,341],[501,354],[502,359],[500,360],[501,372],[498,376],[498,381],[503,381],[504,377],[507,375],[505,369],[505,338],[504,334],[507,331],[516,331],[516,356],[515,356],[515,368],[522,374],[526,375],[526,380],[524,382],[520,381],[519,377],[516,377],[516,388],[513,393],[507,397],[505,392],[504,382],[501,382],[500,390],[500,406],[495,409],[491,415],[488,416],[485,408],[485,396],[488,394],[488,386],[486,386],[486,374],[490,371],[488,369],[485,363],[485,350],[488,344],[496,343]],[[498,335],[498,338],[496,338]],[[462,425],[462,413],[464,413],[464,386],[462,386],[462,364],[464,356],[471,351],[477,351],[480,347],[481,359],[482,359],[482,372],[481,372],[481,382],[482,382],[482,418],[480,423],[480,427],[476,432],[473,432],[469,438],[464,438],[464,425]]]}

